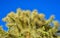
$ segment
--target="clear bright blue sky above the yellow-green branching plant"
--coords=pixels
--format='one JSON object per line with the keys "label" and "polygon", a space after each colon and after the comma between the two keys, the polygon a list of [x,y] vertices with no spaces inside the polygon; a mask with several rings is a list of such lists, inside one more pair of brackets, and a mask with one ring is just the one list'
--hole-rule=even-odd
{"label": "clear bright blue sky above the yellow-green branching plant", "polygon": [[2,18],[11,11],[16,12],[17,8],[31,11],[37,9],[39,13],[44,13],[46,18],[54,14],[55,20],[60,21],[60,0],[0,0],[0,25],[4,30],[7,30],[7,27]]}

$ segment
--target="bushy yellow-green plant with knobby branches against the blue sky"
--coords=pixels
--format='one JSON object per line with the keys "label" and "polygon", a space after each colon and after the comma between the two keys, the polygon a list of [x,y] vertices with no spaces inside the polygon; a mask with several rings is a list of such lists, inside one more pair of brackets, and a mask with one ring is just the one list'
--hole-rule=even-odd
{"label": "bushy yellow-green plant with knobby branches against the blue sky", "polygon": [[58,38],[55,35],[58,21],[54,20],[54,16],[46,20],[45,15],[38,14],[37,10],[31,12],[17,9],[16,13],[10,12],[3,20],[8,31],[0,30],[0,38]]}

